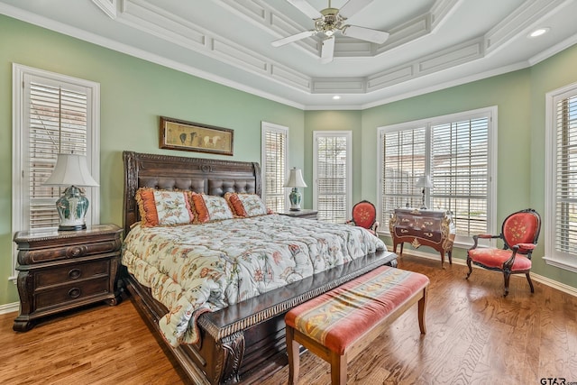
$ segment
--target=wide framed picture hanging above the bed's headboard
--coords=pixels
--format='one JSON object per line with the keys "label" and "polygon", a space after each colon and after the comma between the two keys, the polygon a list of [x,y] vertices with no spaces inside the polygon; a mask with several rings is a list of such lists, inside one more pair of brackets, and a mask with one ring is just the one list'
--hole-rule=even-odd
{"label": "wide framed picture hanging above the bed's headboard", "polygon": [[160,148],[233,155],[234,130],[160,116]]}

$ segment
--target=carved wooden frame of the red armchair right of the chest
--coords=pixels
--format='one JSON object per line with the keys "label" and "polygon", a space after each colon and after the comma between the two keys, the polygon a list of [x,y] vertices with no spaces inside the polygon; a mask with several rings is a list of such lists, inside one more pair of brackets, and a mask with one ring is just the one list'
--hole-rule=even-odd
{"label": "carved wooden frame of the red armchair right of the chest", "polygon": [[[536,232],[534,234],[534,239],[533,239],[532,243],[517,243],[517,244],[513,244],[513,245],[508,244],[508,241],[504,235],[505,234],[505,226],[508,223],[508,219],[514,215],[525,214],[525,213],[535,215],[535,217],[536,217],[536,223],[537,223]],[[540,232],[541,232],[541,216],[534,209],[527,208],[527,209],[520,210],[520,211],[517,211],[513,214],[508,215],[508,217],[505,218],[505,220],[503,221],[503,224],[501,225],[501,233],[499,235],[490,235],[490,234],[473,235],[472,239],[473,239],[474,243],[473,243],[472,247],[467,251],[467,266],[469,267],[469,272],[467,273],[466,279],[468,280],[469,277],[471,276],[472,264],[480,266],[483,269],[487,269],[487,270],[502,271],[503,272],[503,279],[505,281],[505,293],[503,294],[503,297],[507,297],[509,278],[510,278],[511,274],[525,274],[525,276],[527,277],[527,282],[529,282],[529,287],[531,288],[531,293],[535,293],[535,288],[533,287],[533,281],[531,280],[531,276],[529,274],[530,270],[531,270],[530,267],[527,270],[512,270],[512,267],[513,267],[513,263],[515,262],[515,259],[517,258],[517,254],[522,255],[523,258],[528,258],[529,260],[531,260],[531,254],[533,253],[533,250],[536,247],[536,243],[537,243],[537,240],[539,238]],[[504,243],[503,244],[503,250],[511,250],[512,251],[510,258],[508,258],[507,261],[503,262],[503,265],[501,268],[486,266],[479,261],[473,261],[472,260],[470,252],[477,248],[480,238],[481,239],[499,238]]]}

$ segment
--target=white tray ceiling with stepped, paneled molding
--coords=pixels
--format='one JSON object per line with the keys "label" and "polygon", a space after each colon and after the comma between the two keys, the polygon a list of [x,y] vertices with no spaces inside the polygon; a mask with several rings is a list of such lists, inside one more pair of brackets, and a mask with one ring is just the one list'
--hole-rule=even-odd
{"label": "white tray ceiling with stepped, paneled molding", "polygon": [[[374,0],[347,23],[389,40],[337,35],[327,64],[316,37],[270,45],[314,27],[286,0],[0,0],[0,13],[303,109],[380,105],[526,68],[577,42],[577,0]],[[550,31],[528,38],[537,27]]]}

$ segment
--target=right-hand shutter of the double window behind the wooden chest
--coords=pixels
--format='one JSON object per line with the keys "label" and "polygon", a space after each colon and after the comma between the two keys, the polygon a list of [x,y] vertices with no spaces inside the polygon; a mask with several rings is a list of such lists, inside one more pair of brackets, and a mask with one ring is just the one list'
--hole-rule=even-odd
{"label": "right-hand shutter of the double window behind the wooden chest", "polygon": [[459,235],[488,232],[490,118],[432,126],[431,208],[453,212]]}

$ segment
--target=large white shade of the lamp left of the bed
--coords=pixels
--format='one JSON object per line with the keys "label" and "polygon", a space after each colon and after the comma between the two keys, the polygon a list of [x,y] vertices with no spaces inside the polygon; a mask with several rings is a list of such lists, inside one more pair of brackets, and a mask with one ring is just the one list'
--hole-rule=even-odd
{"label": "large white shade of the lamp left of the bed", "polygon": [[96,187],[98,183],[88,171],[87,157],[76,154],[58,154],[56,166],[44,185]]}

